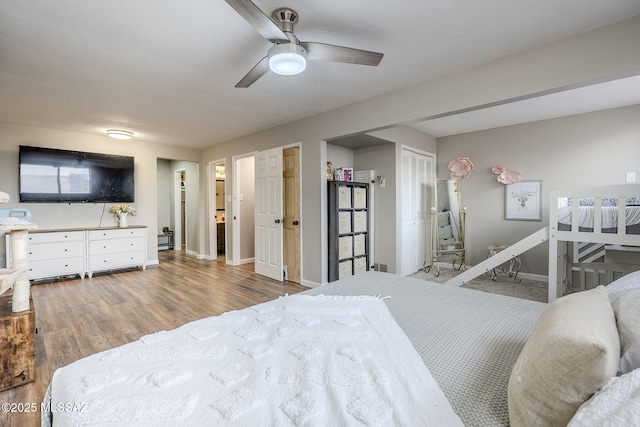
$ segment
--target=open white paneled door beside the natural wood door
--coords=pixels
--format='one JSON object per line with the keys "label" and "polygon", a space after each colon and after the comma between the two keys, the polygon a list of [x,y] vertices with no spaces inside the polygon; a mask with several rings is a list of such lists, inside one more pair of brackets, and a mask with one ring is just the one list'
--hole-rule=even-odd
{"label": "open white paneled door beside the natural wood door", "polygon": [[282,147],[256,154],[255,271],[283,280]]}

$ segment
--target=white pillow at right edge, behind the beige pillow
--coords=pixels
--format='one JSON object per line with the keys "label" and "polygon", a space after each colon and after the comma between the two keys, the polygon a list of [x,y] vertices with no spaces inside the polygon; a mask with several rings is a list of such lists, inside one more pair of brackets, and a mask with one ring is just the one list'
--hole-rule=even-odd
{"label": "white pillow at right edge, behind the beige pillow", "polygon": [[640,368],[640,271],[621,277],[606,289],[620,335],[618,374],[626,374]]}

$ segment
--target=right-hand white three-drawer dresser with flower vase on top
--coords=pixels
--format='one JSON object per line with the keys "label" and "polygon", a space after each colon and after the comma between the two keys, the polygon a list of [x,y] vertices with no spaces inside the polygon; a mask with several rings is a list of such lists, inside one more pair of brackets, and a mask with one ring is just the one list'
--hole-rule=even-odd
{"label": "right-hand white three-drawer dresser with flower vase on top", "polygon": [[142,267],[147,260],[146,228],[109,228],[87,231],[89,277],[96,271]]}

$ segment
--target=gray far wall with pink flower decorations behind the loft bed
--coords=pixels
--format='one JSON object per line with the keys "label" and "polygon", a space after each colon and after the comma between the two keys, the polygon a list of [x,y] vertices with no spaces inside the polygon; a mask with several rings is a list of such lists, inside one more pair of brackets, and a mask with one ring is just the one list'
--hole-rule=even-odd
{"label": "gray far wall with pink flower decorations behind the loft bed", "polygon": [[[458,156],[475,165],[462,198],[468,262],[477,264],[487,245],[514,243],[548,224],[549,191],[622,184],[625,172],[640,177],[640,105],[440,138],[440,178]],[[505,186],[491,173],[494,164],[519,170],[525,181],[542,180],[542,221],[504,219]],[[546,244],[521,259],[523,272],[547,275]]]}

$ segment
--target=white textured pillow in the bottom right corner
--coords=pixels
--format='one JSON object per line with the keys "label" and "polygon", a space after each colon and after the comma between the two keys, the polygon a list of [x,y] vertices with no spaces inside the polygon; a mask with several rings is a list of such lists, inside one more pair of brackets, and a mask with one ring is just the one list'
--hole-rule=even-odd
{"label": "white textured pillow in the bottom right corner", "polygon": [[640,369],[613,377],[580,406],[567,427],[640,425]]}

